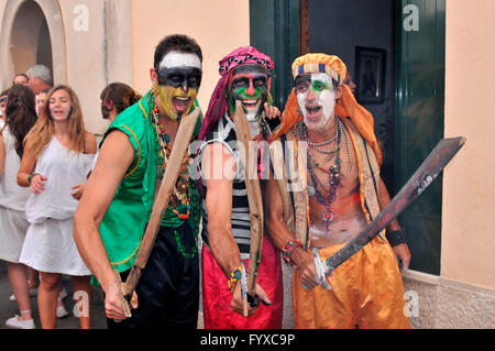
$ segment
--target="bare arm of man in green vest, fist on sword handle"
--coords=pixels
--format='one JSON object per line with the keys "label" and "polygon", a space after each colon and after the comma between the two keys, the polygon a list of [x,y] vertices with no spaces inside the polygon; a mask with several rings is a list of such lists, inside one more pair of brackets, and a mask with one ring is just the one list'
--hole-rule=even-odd
{"label": "bare arm of man in green vest, fist on sword handle", "polygon": [[74,239],[80,256],[106,292],[109,318],[124,319],[120,305],[119,286],[101,241],[98,228],[125,172],[134,160],[134,150],[128,136],[120,131],[108,134],[95,169],[74,217]]}

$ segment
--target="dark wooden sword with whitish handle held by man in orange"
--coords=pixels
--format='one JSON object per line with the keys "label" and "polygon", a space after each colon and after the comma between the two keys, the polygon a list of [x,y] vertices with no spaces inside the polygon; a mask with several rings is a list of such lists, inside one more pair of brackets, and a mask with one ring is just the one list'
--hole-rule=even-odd
{"label": "dark wooden sword with whitish handle held by man in orange", "polygon": [[388,202],[378,216],[369,223],[354,239],[345,244],[326,261],[321,261],[318,250],[312,250],[315,266],[319,283],[322,287],[331,289],[327,276],[360,251],[373,238],[375,238],[394,218],[400,215],[414,200],[416,200],[425,189],[437,178],[443,167],[453,158],[459,150],[464,145],[465,138],[442,139],[431,151],[428,157],[413,174],[406,185]]}

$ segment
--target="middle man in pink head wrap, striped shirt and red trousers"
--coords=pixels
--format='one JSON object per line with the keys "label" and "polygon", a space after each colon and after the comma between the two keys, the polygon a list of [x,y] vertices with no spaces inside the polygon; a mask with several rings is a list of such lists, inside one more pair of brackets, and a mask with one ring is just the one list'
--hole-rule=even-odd
{"label": "middle man in pink head wrap, striped shirt and red trousers", "polygon": [[266,103],[272,70],[272,59],[251,46],[226,56],[220,62],[222,77],[199,133],[204,141],[198,168],[204,193],[201,268],[207,329],[282,327],[280,257],[267,238],[263,240],[255,288],[262,304],[249,306],[249,317],[243,316],[240,281],[250,264],[252,223],[233,123],[237,102],[241,102],[253,140],[264,142],[268,138],[265,117],[279,114]]}

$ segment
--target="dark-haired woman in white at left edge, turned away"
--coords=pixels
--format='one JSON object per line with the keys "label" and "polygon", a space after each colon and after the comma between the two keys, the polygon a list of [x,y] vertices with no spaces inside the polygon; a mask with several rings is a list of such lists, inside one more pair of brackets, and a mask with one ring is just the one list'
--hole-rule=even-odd
{"label": "dark-haired woman in white at left edge, turned away", "polygon": [[30,288],[25,266],[19,262],[29,222],[25,204],[29,189],[16,183],[24,151],[24,136],[36,122],[34,92],[24,86],[10,89],[6,106],[6,125],[0,127],[0,260],[7,261],[10,285],[20,315],[9,318],[9,328],[33,329]]}

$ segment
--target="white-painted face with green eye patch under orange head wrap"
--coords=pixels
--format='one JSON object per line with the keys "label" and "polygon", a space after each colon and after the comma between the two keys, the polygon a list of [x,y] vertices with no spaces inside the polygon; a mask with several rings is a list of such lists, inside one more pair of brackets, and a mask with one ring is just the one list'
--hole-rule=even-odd
{"label": "white-painted face with green eye patch under orange head wrap", "polygon": [[308,129],[326,128],[333,117],[337,102],[332,78],[324,73],[311,74],[306,87],[296,87],[296,91],[297,103]]}

